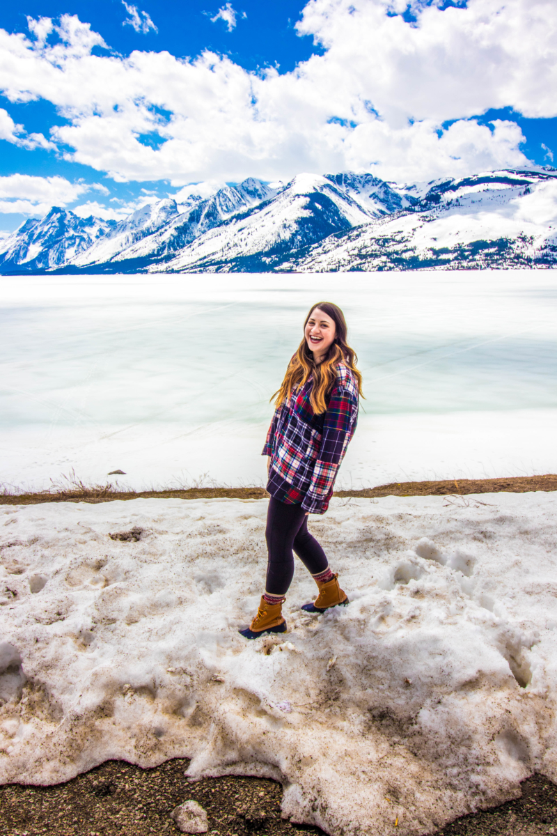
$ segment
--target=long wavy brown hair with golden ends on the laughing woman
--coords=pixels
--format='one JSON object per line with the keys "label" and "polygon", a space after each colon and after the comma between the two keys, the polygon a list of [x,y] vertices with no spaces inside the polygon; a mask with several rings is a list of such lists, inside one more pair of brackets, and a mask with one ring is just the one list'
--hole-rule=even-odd
{"label": "long wavy brown hair with golden ends on the laughing woman", "polygon": [[[306,343],[306,324],[316,308],[319,308],[324,314],[331,317],[336,329],[334,341],[329,346],[329,350],[322,362],[318,364],[313,359],[313,352]],[[316,415],[325,412],[327,410],[327,395],[331,392],[337,380],[337,364],[342,362],[347,364],[348,368],[352,371],[352,374],[357,380],[358,392],[363,397],[362,375],[356,368],[356,352],[347,344],[347,330],[347,321],[344,319],[341,308],[337,305],[332,302],[317,302],[315,305],[311,305],[309,314],[307,314],[304,322],[303,339],[298,346],[296,354],[294,354],[288,364],[281,388],[271,397],[271,400],[273,398],[275,399],[276,406],[280,406],[283,400],[288,400],[291,391],[303,386],[311,375],[313,375],[313,386],[311,387],[310,394],[311,409]]]}

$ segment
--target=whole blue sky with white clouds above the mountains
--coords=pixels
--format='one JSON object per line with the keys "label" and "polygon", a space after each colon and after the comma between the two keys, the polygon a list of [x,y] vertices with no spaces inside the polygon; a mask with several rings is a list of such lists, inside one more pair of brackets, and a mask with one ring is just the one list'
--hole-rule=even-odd
{"label": "whole blue sky with white clouds above the mountains", "polygon": [[557,154],[548,0],[20,0],[0,28],[0,230],[246,176],[423,181]]}

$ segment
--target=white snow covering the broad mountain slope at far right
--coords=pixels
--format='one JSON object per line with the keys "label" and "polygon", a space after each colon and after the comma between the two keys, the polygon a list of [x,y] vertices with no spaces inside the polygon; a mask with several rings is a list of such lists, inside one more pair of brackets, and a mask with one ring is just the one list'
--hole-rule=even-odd
{"label": "white snow covering the broad mountain slope at far right", "polygon": [[[301,259],[294,253],[281,269],[349,270],[363,263],[371,270],[388,264],[391,256],[396,266],[397,257],[428,259],[432,251],[443,252],[446,247],[452,248],[453,261],[463,263],[462,253],[454,248],[473,242],[514,242],[511,251],[522,257],[538,257],[554,242],[557,223],[557,183],[547,175],[539,179],[540,174],[533,179],[524,172],[499,171],[459,182],[442,180],[408,186],[408,193],[417,197],[437,194],[440,203],[428,206],[425,212],[374,219],[340,239],[326,238]],[[505,183],[505,179],[519,185]],[[403,193],[403,189],[398,191]],[[512,252],[501,254],[498,265],[509,266],[511,256]]]}

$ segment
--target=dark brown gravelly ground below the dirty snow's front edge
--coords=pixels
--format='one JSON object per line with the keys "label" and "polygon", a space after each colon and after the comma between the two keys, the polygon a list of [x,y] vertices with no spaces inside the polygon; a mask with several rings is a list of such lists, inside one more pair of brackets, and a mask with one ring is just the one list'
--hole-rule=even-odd
{"label": "dark brown gravelly ground below the dirty snow's front edge", "polygon": [[[186,760],[154,769],[109,761],[55,787],[0,788],[2,836],[172,836],[170,813],[188,798],[207,811],[214,836],[321,834],[281,818],[281,785],[261,778],[206,778],[189,783]],[[396,833],[392,822],[392,833]],[[557,832],[557,786],[534,775],[522,797],[458,818],[438,836],[540,836]]]}

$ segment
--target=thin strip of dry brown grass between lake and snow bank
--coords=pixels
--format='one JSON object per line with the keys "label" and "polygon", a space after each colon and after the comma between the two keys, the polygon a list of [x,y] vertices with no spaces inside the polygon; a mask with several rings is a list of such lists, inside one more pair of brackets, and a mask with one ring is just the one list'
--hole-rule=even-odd
{"label": "thin strip of dry brown grass between lake and snow bank", "polygon": [[[557,491],[557,475],[505,477],[499,479],[446,479],[442,482],[392,482],[389,485],[366,487],[360,491],[337,491],[335,497],[444,497],[467,493],[524,493]],[[0,505],[35,505],[38,502],[113,502],[127,499],[263,499],[268,496],[262,487],[192,487],[184,491],[119,491],[111,485],[85,487],[40,493],[0,493]]]}

